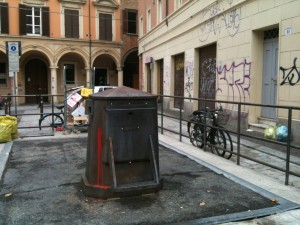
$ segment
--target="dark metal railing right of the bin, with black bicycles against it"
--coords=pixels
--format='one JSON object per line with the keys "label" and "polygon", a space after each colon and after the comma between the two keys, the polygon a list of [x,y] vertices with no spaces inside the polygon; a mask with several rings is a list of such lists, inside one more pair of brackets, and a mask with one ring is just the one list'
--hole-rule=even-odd
{"label": "dark metal railing right of the bin, with black bicycles against it", "polygon": [[[253,162],[271,167],[273,169],[282,171],[285,173],[285,184],[288,185],[289,184],[289,175],[294,175],[297,177],[300,177],[300,172],[298,171],[292,171],[290,168],[290,163],[291,163],[291,150],[296,150],[300,153],[300,147],[297,146],[296,144],[293,144],[292,142],[292,115],[294,111],[300,111],[300,107],[293,107],[293,106],[281,106],[281,105],[263,105],[263,104],[255,104],[255,103],[242,103],[242,102],[231,102],[231,101],[218,101],[218,100],[209,100],[209,99],[201,99],[201,98],[187,98],[187,97],[181,97],[181,96],[169,96],[169,95],[159,95],[160,96],[160,105],[158,107],[158,115],[160,116],[160,125],[159,125],[159,129],[161,134],[164,133],[164,131],[168,131],[171,132],[173,134],[176,134],[179,136],[179,141],[182,142],[182,138],[189,138],[189,136],[186,134],[187,132],[185,132],[183,125],[187,122],[189,122],[188,120],[188,115],[184,112],[184,104],[190,103],[190,105],[193,105],[193,101],[197,101],[198,103],[201,102],[202,105],[208,105],[208,103],[215,103],[215,104],[225,104],[225,105],[231,105],[231,109],[234,109],[235,111],[235,115],[236,115],[236,127],[232,128],[232,127],[226,127],[225,126],[225,130],[227,130],[231,136],[236,137],[235,142],[236,142],[236,149],[234,149],[235,151],[233,152],[233,155],[236,156],[236,164],[240,165],[241,163],[241,158],[247,159],[247,160],[251,160]],[[170,107],[168,106],[164,106],[164,102],[168,102],[168,104],[173,103],[173,101],[177,99],[177,101],[180,101],[179,104],[179,108],[175,109],[173,108],[170,109]],[[167,101],[166,101],[167,100]],[[168,101],[169,100],[169,101]],[[172,100],[172,101],[171,101]],[[244,132],[242,130],[242,108],[251,108],[251,107],[266,107],[266,108],[275,108],[275,109],[283,109],[283,110],[287,110],[287,124],[286,126],[288,127],[288,134],[287,134],[287,141],[286,142],[279,142],[276,140],[270,140],[270,139],[266,139],[264,137],[259,137],[259,136],[255,136],[255,135],[250,135],[250,132]],[[226,107],[225,107],[226,109]],[[192,112],[192,111],[191,111]],[[176,127],[176,129],[170,129],[167,128],[166,126],[164,126],[164,120],[166,118],[170,118],[173,121],[175,121],[175,123],[178,123]],[[177,121],[177,122],[176,122]],[[244,126],[245,127],[245,126]],[[248,123],[246,124],[246,127],[248,127]],[[247,129],[247,128],[245,128]],[[300,132],[300,131],[299,131]],[[299,134],[300,135],[300,134]],[[205,136],[205,135],[204,135]],[[254,158],[251,157],[245,153],[241,152],[241,139],[245,138],[245,139],[253,139],[255,141],[260,141],[263,142],[263,145],[278,145],[281,148],[285,148],[286,150],[286,154],[285,154],[285,166],[280,167],[278,165],[276,165],[276,163],[271,163],[271,162],[265,162],[259,158]],[[204,146],[206,146],[206,140],[204,138]],[[205,147],[204,147],[204,151],[205,151]],[[223,149],[222,149],[223,150]],[[228,150],[225,150],[228,151]],[[300,157],[300,155],[299,155]],[[300,165],[299,165],[300,166]]]}

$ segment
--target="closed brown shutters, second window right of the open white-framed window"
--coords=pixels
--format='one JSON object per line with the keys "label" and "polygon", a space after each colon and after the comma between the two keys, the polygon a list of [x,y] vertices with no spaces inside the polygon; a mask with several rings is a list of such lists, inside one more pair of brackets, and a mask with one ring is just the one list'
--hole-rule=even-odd
{"label": "closed brown shutters, second window right of the open white-framed window", "polygon": [[100,40],[112,41],[112,15],[99,13]]}

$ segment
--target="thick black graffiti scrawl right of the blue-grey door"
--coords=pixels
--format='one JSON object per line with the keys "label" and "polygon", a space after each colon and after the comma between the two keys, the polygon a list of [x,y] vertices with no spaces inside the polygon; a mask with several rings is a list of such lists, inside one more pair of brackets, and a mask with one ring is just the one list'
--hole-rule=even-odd
{"label": "thick black graffiti scrawl right of the blue-grey door", "polygon": [[280,85],[289,84],[291,86],[294,86],[295,84],[298,84],[300,81],[300,70],[296,65],[297,58],[294,58],[294,65],[290,68],[283,68],[280,67],[280,70],[282,71],[282,82]]}

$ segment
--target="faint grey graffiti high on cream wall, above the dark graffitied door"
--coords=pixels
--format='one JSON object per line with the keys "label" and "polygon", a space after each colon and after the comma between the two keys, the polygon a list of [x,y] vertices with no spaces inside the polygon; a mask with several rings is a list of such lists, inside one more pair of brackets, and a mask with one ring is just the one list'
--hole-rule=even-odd
{"label": "faint grey graffiti high on cream wall, above the dark graffitied door", "polygon": [[[232,1],[227,3],[231,6]],[[209,38],[210,34],[217,35],[225,30],[233,37],[240,29],[241,8],[225,10],[219,2],[211,8],[205,10],[201,19],[206,21],[200,27],[200,41],[204,42]]]}

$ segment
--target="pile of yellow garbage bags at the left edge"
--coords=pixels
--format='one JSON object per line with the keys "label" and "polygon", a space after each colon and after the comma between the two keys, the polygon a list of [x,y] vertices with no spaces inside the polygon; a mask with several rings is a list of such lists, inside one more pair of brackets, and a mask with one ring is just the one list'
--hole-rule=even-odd
{"label": "pile of yellow garbage bags at the left edge", "polygon": [[18,121],[13,116],[0,116],[0,143],[18,138]]}

